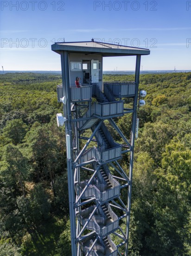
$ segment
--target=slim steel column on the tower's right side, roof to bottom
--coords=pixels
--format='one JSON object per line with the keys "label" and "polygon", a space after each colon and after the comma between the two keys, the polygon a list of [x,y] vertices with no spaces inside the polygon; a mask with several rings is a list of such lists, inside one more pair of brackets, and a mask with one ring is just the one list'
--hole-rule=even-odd
{"label": "slim steel column on the tower's right side, roof to bottom", "polygon": [[128,197],[127,197],[127,227],[126,227],[126,248],[125,256],[128,255],[128,239],[129,239],[129,222],[130,222],[130,210],[131,210],[131,193],[132,193],[132,178],[133,178],[133,161],[134,161],[134,140],[136,132],[136,121],[137,121],[137,100],[138,100],[138,90],[139,90],[139,75],[140,75],[140,55],[137,55],[136,59],[136,69],[135,69],[135,95],[134,95],[134,112],[132,119],[132,128],[131,128],[131,153],[130,153],[130,162],[129,162],[129,186],[128,186]]}

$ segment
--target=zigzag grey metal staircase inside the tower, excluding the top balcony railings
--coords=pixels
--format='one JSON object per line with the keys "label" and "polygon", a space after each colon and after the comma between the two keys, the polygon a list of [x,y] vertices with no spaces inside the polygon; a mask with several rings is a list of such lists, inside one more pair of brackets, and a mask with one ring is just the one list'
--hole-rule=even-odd
{"label": "zigzag grey metal staircase inside the tower, excluding the top balcony railings", "polygon": [[[77,127],[77,137],[74,136],[73,140],[73,144],[76,145],[73,148],[76,155],[74,182],[78,255],[117,256],[118,247],[109,235],[117,234],[121,238],[122,245],[126,242],[126,236],[118,233],[121,232],[120,220],[128,215],[128,209],[120,198],[120,182],[125,181],[127,187],[128,178],[122,174],[121,180],[117,181],[110,170],[115,164],[115,171],[121,173],[122,168],[118,166],[117,160],[122,157],[122,145],[114,141],[104,120],[109,119],[112,122],[112,117],[123,115],[123,101],[116,101],[112,90],[108,87],[102,92],[95,84],[91,91],[94,102],[88,102],[80,118],[75,118],[79,112],[77,108],[74,115]],[[114,125],[116,126],[115,123]],[[89,138],[83,136],[87,130],[91,132]],[[79,139],[86,138],[87,142],[80,149]],[[88,148],[90,141],[95,141],[97,146]],[[82,179],[83,171],[89,173],[88,179]],[[120,210],[121,216],[116,215],[116,209],[118,212]],[[86,233],[88,232],[86,235],[85,230]]]}

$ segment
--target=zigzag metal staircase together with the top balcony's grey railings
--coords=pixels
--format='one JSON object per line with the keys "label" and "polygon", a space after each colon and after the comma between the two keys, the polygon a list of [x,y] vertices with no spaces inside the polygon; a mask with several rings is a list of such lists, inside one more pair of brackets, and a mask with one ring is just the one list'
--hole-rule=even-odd
{"label": "zigzag metal staircase together with the top balcony's grey railings", "polygon": [[[132,153],[132,143],[125,138],[113,118],[133,113],[133,109],[124,111],[121,99],[128,93],[132,96],[134,88],[135,83],[125,86],[117,83],[116,87],[113,83],[106,83],[104,92],[96,84],[80,88],[79,94],[79,88],[71,90],[77,256],[121,256],[121,246],[126,246],[124,252],[127,252],[128,229],[121,229],[121,221],[126,219],[128,227],[129,205],[122,202],[121,189],[130,187],[131,178],[118,160],[123,153]],[[113,139],[105,120],[109,121],[123,143]],[[118,245],[112,240],[115,236],[121,239]]]}

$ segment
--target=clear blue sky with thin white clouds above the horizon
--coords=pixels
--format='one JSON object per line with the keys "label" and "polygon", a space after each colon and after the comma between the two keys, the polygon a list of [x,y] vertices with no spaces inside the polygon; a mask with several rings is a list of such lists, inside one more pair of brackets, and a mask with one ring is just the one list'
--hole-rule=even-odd
{"label": "clear blue sky with thin white clouds above the horizon", "polygon": [[[149,48],[143,70],[191,70],[191,1],[1,1],[0,65],[4,70],[61,70],[54,41]],[[104,70],[133,70],[134,57],[104,58]]]}

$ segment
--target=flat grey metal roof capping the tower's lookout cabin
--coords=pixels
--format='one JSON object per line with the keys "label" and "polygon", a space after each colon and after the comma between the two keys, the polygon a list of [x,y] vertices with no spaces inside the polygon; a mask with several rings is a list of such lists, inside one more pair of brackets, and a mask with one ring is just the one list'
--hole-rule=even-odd
{"label": "flat grey metal roof capping the tower's lookout cabin", "polygon": [[150,51],[144,48],[123,46],[117,44],[102,43],[98,41],[84,42],[57,42],[51,46],[52,51],[60,54],[62,51],[73,53],[95,54],[102,56],[128,56],[128,55],[148,55]]}

